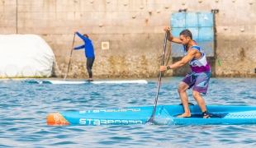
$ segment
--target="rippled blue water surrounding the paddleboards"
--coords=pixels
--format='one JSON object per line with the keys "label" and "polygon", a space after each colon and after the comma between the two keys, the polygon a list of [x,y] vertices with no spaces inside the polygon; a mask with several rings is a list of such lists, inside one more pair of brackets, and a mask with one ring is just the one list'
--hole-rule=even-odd
{"label": "rippled blue water surrounding the paddleboards", "polygon": [[[182,77],[164,77],[158,104],[180,104]],[[72,81],[72,80],[71,80]],[[73,80],[78,81],[78,80]],[[255,147],[256,125],[46,124],[49,113],[153,105],[149,84],[50,85],[0,81],[0,147]],[[189,101],[196,104],[188,90]],[[256,106],[256,79],[211,78],[206,104]]]}

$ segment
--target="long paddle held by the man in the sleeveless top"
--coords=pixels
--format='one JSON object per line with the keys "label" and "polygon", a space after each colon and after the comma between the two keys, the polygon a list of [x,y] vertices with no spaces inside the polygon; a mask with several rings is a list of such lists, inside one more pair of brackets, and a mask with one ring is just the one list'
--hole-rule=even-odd
{"label": "long paddle held by the man in the sleeveless top", "polygon": [[[164,55],[165,55],[165,49],[166,49],[166,41],[167,41],[167,33],[168,31],[165,32],[165,37],[164,37],[164,51],[163,51],[163,55],[162,55],[162,62],[161,65],[164,65]],[[149,120],[146,123],[154,123],[154,113],[155,113],[155,109],[156,109],[156,104],[158,103],[158,98],[159,98],[159,89],[160,89],[160,84],[161,84],[161,78],[162,78],[162,71],[159,72],[159,83],[158,83],[158,90],[154,99],[154,109],[153,109],[153,113],[151,115],[151,117],[149,118]]]}

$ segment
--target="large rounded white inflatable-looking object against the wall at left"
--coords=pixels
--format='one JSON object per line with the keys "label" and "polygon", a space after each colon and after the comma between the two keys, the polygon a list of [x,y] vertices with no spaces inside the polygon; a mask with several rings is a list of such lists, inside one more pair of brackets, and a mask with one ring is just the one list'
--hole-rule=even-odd
{"label": "large rounded white inflatable-looking object against the wall at left", "polygon": [[0,35],[0,78],[49,77],[55,54],[39,35]]}

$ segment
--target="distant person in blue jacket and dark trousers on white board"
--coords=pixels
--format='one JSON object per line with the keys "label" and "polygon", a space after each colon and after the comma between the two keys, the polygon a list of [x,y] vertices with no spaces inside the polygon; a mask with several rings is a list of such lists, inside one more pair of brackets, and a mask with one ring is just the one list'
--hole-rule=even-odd
{"label": "distant person in blue jacket and dark trousers on white board", "polygon": [[75,31],[75,33],[84,41],[84,44],[82,46],[78,46],[72,49],[77,50],[77,49],[84,49],[84,54],[85,57],[87,58],[87,62],[86,62],[86,67],[88,70],[88,74],[89,74],[89,79],[88,81],[93,81],[92,79],[92,66],[93,66],[93,62],[95,59],[95,55],[94,55],[94,49],[93,49],[93,45],[92,45],[92,40],[89,39],[88,35],[84,34],[81,35],[78,31]]}

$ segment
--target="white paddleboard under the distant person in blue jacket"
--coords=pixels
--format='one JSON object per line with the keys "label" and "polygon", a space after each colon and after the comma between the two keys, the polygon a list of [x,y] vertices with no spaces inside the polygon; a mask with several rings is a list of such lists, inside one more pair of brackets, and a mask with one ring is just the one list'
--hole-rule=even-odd
{"label": "white paddleboard under the distant person in blue jacket", "polygon": [[86,84],[86,83],[92,83],[92,84],[148,84],[148,81],[145,80],[131,80],[131,81],[24,81],[28,83],[35,83],[35,84]]}

